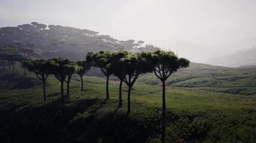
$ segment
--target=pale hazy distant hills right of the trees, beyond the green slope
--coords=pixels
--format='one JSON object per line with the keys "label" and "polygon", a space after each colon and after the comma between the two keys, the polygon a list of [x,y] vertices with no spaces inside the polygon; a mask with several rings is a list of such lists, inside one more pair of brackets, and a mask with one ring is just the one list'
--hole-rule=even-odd
{"label": "pale hazy distant hills right of the trees, beyond the green slope", "polygon": [[[215,64],[219,66],[233,66],[232,63],[229,64],[229,61],[233,61],[232,56],[229,55],[244,50],[250,50],[254,45],[256,45],[256,37],[252,36],[246,39],[216,41],[215,43],[209,44],[200,44],[192,41],[178,41],[166,46],[165,49],[173,50],[175,53],[178,53],[179,56],[186,57],[194,62]],[[219,59],[219,57],[222,56],[229,56],[227,58],[227,64],[209,62],[212,59]],[[246,61],[246,58],[243,61]],[[250,63],[251,61],[246,61],[244,64],[241,63],[239,66],[247,65],[247,62]]]}

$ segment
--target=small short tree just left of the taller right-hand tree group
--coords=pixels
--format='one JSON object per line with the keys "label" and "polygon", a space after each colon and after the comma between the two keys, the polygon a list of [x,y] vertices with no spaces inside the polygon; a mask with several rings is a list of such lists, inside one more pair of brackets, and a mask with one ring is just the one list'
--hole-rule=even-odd
{"label": "small short tree just left of the taller right-hand tree group", "polygon": [[76,61],[76,64],[79,66],[76,73],[79,75],[81,79],[81,91],[83,91],[83,76],[89,69],[91,69],[92,64],[88,61]]}

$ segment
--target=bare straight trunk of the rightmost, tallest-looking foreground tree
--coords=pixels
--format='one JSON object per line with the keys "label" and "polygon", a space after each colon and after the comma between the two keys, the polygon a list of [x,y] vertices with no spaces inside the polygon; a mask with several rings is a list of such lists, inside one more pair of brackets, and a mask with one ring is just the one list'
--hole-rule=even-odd
{"label": "bare straight trunk of the rightmost, tallest-looking foreground tree", "polygon": [[166,120],[166,107],[165,107],[165,81],[163,81],[163,113],[162,113],[162,143],[165,143],[165,120]]}

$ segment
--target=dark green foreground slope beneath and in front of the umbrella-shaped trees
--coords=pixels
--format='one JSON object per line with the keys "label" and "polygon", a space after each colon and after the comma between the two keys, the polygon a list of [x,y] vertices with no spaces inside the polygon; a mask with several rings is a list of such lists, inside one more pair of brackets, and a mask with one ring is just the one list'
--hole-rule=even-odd
{"label": "dark green foreground slope beneath and in front of the umbrella-shaped trees", "polygon": [[[59,101],[59,83],[53,77],[47,82],[47,102],[42,102],[42,88],[33,76],[14,77],[16,82],[7,82],[4,77],[6,74],[1,74],[1,87],[15,89],[1,88],[0,138],[3,142],[160,141],[161,87],[152,85],[150,75],[140,77],[140,82],[134,85],[130,117],[125,116],[126,87],[123,89],[124,107],[116,108],[119,83],[114,80],[110,84],[111,100],[102,104],[104,79],[86,77],[86,91],[81,92],[80,81],[74,77],[70,97],[63,104]],[[241,94],[168,86],[167,139],[256,142],[255,104],[254,97]]]}

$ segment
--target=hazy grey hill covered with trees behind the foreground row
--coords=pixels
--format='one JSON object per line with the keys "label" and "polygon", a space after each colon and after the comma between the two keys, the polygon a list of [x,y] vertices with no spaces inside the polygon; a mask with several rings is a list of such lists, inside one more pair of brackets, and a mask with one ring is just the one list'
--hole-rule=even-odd
{"label": "hazy grey hill covered with trees behind the foreground row", "polygon": [[[32,22],[14,27],[0,29],[0,46],[26,46],[33,49],[32,56],[60,56],[73,60],[83,59],[88,51],[127,50],[152,51],[155,46],[143,41],[119,41],[109,35],[101,35],[97,31],[77,29],[69,26],[45,25]],[[31,46],[32,45],[32,46]]]}

